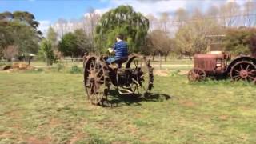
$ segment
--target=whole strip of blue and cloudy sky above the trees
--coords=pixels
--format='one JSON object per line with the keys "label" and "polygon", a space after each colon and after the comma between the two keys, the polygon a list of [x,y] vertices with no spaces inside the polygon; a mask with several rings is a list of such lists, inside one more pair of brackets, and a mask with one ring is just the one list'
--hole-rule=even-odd
{"label": "whole strip of blue and cloudy sky above the trees", "polygon": [[[102,14],[107,10],[120,5],[130,5],[135,11],[142,14],[158,15],[162,12],[174,14],[178,8],[186,8],[192,11],[195,7],[206,10],[211,5],[234,0],[0,0],[0,12],[4,11],[29,11],[40,22],[39,29],[46,29],[58,18],[79,19],[90,8],[94,8]],[[236,0],[240,5],[246,0]]]}

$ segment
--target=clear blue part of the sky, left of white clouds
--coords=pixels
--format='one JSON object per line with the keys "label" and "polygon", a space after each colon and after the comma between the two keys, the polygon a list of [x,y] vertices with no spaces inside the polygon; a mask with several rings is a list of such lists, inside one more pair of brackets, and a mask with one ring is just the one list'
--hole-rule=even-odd
{"label": "clear blue part of the sky, left of white clouds", "polygon": [[0,0],[0,11],[26,10],[41,21],[79,18],[89,7],[102,9],[108,2],[99,0]]}

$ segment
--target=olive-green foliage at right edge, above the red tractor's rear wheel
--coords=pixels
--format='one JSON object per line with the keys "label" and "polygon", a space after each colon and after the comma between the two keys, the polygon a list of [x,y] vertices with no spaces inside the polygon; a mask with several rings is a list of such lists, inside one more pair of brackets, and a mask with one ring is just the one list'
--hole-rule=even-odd
{"label": "olive-green foliage at right edge, above the red tractor's rear wheel", "polygon": [[251,54],[256,57],[256,29],[227,30],[224,45],[232,54]]}

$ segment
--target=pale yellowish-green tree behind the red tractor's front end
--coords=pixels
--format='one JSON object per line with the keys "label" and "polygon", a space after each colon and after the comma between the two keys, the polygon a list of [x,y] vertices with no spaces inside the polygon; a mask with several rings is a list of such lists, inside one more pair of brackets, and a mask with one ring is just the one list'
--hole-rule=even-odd
{"label": "pale yellowish-green tree behind the red tractor's front end", "polygon": [[197,20],[182,26],[175,34],[176,52],[178,54],[206,52],[207,35],[222,33],[221,26],[211,19]]}

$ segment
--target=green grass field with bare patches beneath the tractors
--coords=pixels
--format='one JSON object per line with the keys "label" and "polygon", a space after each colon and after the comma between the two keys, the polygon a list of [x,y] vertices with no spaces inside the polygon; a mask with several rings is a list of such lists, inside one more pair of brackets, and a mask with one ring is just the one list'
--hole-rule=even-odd
{"label": "green grass field with bare patches beneath the tractors", "polygon": [[92,106],[82,74],[0,73],[0,143],[256,143],[256,86],[155,77],[151,98]]}

